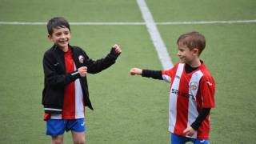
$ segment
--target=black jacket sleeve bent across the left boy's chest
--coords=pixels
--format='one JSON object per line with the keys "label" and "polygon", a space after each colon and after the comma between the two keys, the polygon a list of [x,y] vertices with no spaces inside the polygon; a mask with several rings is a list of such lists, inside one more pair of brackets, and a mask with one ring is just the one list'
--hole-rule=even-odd
{"label": "black jacket sleeve bent across the left boy's chest", "polygon": [[[45,82],[49,86],[66,86],[75,79],[80,78],[78,71],[72,73],[61,73],[61,65],[58,61],[54,62],[54,55],[50,53],[44,54],[43,70],[45,74]],[[65,64],[64,64],[65,65]]]}

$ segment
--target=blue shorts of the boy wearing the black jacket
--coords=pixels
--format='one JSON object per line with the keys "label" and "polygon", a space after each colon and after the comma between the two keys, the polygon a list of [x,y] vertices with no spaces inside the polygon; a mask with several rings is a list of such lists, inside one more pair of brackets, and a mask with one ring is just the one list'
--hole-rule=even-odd
{"label": "blue shorts of the boy wearing the black jacket", "polygon": [[72,130],[75,132],[86,131],[85,118],[78,119],[48,119],[46,121],[46,134],[57,136]]}

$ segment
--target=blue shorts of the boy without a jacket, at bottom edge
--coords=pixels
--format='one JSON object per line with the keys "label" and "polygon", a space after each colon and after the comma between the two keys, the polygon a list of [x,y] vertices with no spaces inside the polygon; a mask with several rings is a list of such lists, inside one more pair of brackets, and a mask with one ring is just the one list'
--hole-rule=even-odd
{"label": "blue shorts of the boy without a jacket, at bottom edge", "polygon": [[194,144],[209,144],[209,142],[204,139],[186,138],[177,134],[171,134],[170,137],[171,144],[185,144],[186,142],[193,142]]}

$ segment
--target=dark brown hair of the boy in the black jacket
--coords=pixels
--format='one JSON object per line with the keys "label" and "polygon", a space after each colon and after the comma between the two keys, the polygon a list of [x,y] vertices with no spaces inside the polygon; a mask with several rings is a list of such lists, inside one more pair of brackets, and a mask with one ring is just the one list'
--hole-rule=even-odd
{"label": "dark brown hair of the boy in the black jacket", "polygon": [[50,35],[53,34],[54,29],[65,28],[65,27],[70,30],[69,22],[67,22],[66,19],[62,17],[51,18],[47,23],[48,34]]}

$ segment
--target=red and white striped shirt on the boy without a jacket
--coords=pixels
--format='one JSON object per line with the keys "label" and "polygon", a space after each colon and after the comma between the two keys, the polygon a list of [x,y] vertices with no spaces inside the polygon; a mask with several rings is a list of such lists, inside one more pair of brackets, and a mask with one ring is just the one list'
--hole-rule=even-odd
{"label": "red and white striped shirt on the boy without a jacket", "polygon": [[[178,63],[162,71],[162,78],[170,82],[169,128],[171,133],[186,136],[183,130],[198,117],[202,108],[213,108],[215,82],[204,63],[197,70],[186,74],[185,64]],[[210,116],[190,138],[208,139]],[[189,137],[189,136],[186,136]]]}

